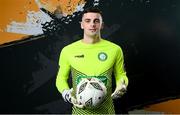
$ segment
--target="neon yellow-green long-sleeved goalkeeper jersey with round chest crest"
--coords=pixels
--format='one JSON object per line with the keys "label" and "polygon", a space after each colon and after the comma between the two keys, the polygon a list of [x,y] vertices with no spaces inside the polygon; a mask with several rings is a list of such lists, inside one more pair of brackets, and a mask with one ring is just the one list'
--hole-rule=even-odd
{"label": "neon yellow-green long-sleeved goalkeeper jersey with round chest crest", "polygon": [[107,88],[107,96],[100,106],[93,109],[73,107],[73,114],[115,113],[111,98],[112,72],[114,72],[116,85],[120,84],[121,80],[125,80],[126,85],[128,85],[123,53],[118,45],[104,39],[100,39],[95,44],[86,44],[79,40],[62,49],[59,65],[56,86],[61,93],[65,89],[70,89],[67,82],[70,72],[74,94],[81,78],[99,78]]}

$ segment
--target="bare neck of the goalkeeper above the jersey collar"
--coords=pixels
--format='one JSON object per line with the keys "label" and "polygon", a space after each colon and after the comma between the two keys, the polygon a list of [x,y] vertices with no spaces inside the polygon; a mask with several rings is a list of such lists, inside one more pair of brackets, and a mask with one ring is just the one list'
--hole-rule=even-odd
{"label": "bare neck of the goalkeeper above the jersey collar", "polygon": [[99,42],[100,39],[101,37],[99,35],[93,36],[93,37],[84,36],[84,38],[82,39],[82,42],[87,43],[87,44],[94,44],[94,43]]}

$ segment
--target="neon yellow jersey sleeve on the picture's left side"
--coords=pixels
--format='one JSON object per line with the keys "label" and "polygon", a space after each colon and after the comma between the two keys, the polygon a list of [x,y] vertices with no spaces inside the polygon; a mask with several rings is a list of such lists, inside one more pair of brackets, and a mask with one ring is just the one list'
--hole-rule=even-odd
{"label": "neon yellow jersey sleeve on the picture's left side", "polygon": [[59,71],[56,78],[56,87],[60,93],[65,89],[69,89],[68,78],[70,73],[70,64],[65,49],[62,49],[59,59]]}

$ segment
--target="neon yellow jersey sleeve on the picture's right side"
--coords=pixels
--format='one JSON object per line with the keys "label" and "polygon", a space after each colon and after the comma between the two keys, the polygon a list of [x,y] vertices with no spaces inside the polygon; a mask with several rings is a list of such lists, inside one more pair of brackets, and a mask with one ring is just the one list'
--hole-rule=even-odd
{"label": "neon yellow jersey sleeve on the picture's right side", "polygon": [[121,48],[117,50],[116,62],[114,64],[114,75],[116,80],[116,86],[120,85],[125,81],[126,86],[128,85],[128,78],[124,69],[124,56]]}

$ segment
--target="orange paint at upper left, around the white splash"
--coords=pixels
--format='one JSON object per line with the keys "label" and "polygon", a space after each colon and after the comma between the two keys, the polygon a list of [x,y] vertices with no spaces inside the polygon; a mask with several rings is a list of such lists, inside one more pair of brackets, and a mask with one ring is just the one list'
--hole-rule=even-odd
{"label": "orange paint at upper left, around the white splash", "polygon": [[[40,0],[50,12],[60,8],[63,14],[72,14],[78,4],[84,4],[85,0]],[[0,0],[0,44],[20,40],[27,36],[5,32],[6,26],[12,21],[26,22],[28,11],[39,11],[35,0]]]}

